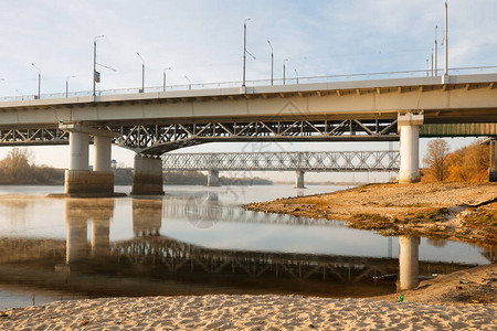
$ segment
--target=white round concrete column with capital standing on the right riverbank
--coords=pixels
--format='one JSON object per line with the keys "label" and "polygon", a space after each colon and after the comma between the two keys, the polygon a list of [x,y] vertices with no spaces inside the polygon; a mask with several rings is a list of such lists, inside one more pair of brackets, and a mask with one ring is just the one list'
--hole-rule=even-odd
{"label": "white round concrete column with capital standing on the right riverbank", "polygon": [[399,115],[398,127],[400,131],[400,183],[415,183],[420,175],[420,127],[423,125],[423,115]]}

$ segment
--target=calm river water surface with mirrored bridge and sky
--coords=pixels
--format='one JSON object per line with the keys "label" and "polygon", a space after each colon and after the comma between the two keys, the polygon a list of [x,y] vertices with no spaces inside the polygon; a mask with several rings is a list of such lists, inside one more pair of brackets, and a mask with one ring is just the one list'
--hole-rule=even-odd
{"label": "calm river water surface with mirrored bridge and sky", "polygon": [[[44,197],[62,186],[0,188],[0,309],[103,296],[394,292],[395,281],[380,276],[399,273],[399,238],[240,207],[339,189],[166,186],[158,199],[64,200]],[[421,238],[419,274],[488,256]]]}

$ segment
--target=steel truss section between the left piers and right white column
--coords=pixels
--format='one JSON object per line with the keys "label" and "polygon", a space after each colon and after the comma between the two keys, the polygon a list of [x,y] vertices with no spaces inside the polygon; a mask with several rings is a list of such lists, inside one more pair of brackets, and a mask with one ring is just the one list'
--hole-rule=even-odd
{"label": "steel truss section between the left piers and right white column", "polygon": [[150,156],[214,141],[399,140],[396,119],[212,121],[107,128],[118,134],[117,145]]}

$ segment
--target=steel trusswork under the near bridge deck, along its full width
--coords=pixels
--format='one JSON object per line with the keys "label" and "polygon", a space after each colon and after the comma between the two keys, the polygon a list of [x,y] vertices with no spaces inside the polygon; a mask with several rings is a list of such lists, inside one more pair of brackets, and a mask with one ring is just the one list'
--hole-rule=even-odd
{"label": "steel trusswork under the near bridge deck, along its full width", "polygon": [[[157,120],[159,122],[159,120]],[[205,142],[233,141],[399,141],[394,119],[296,119],[208,121],[106,126],[113,143],[147,156]],[[420,137],[497,137],[497,124],[425,124]],[[59,126],[0,129],[0,146],[67,145],[70,134]],[[93,142],[91,140],[91,142]]]}

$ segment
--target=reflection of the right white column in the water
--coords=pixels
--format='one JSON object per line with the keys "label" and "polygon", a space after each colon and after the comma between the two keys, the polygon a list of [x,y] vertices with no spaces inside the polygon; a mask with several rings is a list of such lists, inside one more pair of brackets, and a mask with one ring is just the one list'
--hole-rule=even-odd
{"label": "reflection of the right white column in the water", "polygon": [[420,237],[399,236],[399,290],[420,284],[419,245]]}

